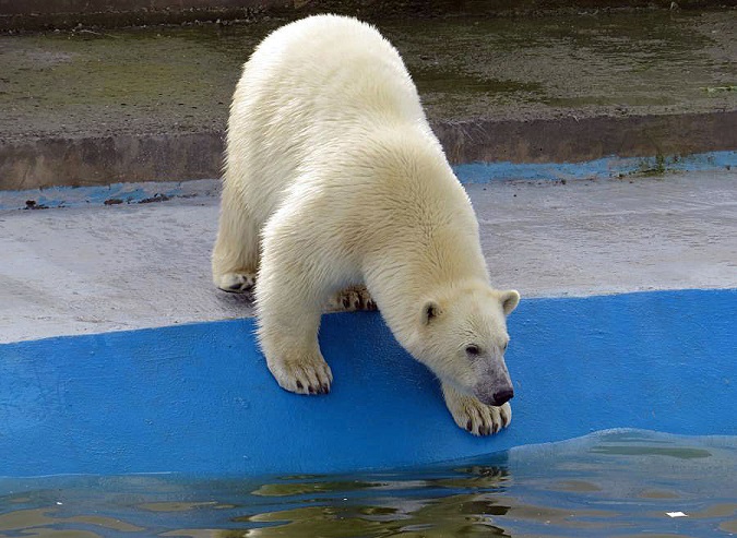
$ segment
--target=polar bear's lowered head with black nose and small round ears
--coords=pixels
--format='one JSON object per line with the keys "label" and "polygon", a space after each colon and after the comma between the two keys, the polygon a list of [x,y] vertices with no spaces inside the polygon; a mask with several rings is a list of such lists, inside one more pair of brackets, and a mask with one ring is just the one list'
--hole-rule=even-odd
{"label": "polar bear's lowered head with black nose and small round ears", "polygon": [[423,301],[415,358],[444,383],[500,406],[514,395],[504,362],[507,315],[520,302],[515,290],[485,285],[448,289]]}

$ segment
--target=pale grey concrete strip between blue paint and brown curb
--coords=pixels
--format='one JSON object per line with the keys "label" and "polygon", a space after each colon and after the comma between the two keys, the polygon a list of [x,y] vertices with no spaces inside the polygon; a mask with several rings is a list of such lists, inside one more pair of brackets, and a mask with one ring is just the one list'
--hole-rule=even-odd
{"label": "pale grey concrete strip between blue paint and brown curb", "polygon": [[[523,300],[737,286],[737,171],[466,186]],[[215,195],[0,212],[0,343],[251,315],[217,291]]]}

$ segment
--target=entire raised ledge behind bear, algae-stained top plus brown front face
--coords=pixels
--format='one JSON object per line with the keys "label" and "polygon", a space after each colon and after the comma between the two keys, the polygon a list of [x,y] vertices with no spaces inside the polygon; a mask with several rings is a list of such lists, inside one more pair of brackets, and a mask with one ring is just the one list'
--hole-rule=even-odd
{"label": "entire raised ledge behind bear, algae-stained top plus brown front face", "polygon": [[[126,170],[131,181],[214,177],[240,65],[284,22],[0,36],[0,189],[121,181]],[[564,147],[576,138],[595,146],[611,129],[611,153],[620,153],[617,140],[638,138],[631,154],[689,153],[699,133],[696,151],[737,147],[734,9],[378,26],[438,131],[462,125],[460,139],[441,140],[460,140],[472,156],[597,158]],[[548,140],[566,140],[543,156],[525,150],[539,121],[552,125]],[[477,142],[495,131],[523,151],[498,155],[499,145]],[[164,177],[167,168],[176,177]]]}

